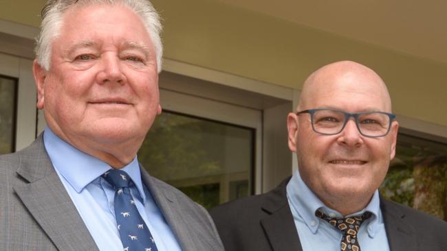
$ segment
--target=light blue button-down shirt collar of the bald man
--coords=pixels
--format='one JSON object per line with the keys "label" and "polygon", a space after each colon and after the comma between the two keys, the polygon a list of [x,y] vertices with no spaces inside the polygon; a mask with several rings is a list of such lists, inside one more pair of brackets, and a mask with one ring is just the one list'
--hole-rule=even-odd
{"label": "light blue button-down shirt collar of the bald man", "polygon": [[[286,187],[287,190],[287,200],[289,204],[294,208],[294,212],[298,214],[303,222],[307,225],[312,233],[316,233],[319,226],[319,218],[315,215],[318,209],[321,209],[323,213],[329,215],[330,217],[342,217],[341,213],[328,208],[321,202],[318,197],[307,187],[305,182],[301,179],[299,171],[295,171],[294,175],[290,179]],[[380,199],[379,192],[376,190],[373,194],[373,198],[369,204],[360,212],[353,213],[351,215],[361,215],[362,213],[369,211],[373,213],[368,224],[368,235],[373,238],[375,232],[378,230],[378,225],[383,223],[382,212],[380,211]]]}

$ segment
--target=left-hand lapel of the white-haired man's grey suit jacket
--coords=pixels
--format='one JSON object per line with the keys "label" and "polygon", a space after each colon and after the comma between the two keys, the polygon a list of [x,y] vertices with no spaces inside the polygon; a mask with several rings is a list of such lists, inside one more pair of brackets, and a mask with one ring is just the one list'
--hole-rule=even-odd
{"label": "left-hand lapel of the white-haired man's grey suit jacket", "polygon": [[20,154],[17,174],[29,183],[14,191],[58,250],[98,250],[52,167],[42,136]]}

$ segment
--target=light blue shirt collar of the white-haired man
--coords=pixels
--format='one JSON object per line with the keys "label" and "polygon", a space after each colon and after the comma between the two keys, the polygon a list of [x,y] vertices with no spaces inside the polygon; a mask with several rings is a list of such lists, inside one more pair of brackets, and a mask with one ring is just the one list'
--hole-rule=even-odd
{"label": "light blue shirt collar of the white-haired man", "polygon": [[[50,156],[54,169],[67,180],[77,193],[83,191],[87,184],[90,184],[111,169],[110,165],[104,161],[85,154],[63,141],[48,127],[45,128],[43,133],[43,144],[48,156]],[[143,203],[145,203],[146,195],[143,191],[140,165],[137,157],[135,156],[131,163],[122,167],[122,170],[129,174],[140,193]]]}

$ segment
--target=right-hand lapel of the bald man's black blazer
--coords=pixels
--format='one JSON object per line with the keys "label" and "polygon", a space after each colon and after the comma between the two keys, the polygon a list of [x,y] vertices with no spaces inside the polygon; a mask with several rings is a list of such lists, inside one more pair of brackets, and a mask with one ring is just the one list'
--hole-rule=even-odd
{"label": "right-hand lapel of the bald man's black blazer", "polygon": [[416,251],[415,229],[406,223],[405,214],[392,202],[380,198],[386,236],[391,251]]}

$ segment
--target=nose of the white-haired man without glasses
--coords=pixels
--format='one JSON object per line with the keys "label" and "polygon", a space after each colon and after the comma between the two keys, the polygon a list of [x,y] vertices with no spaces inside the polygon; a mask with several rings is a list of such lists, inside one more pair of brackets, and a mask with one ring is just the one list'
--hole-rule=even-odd
{"label": "nose of the white-haired man without glasses", "polygon": [[104,55],[100,62],[100,72],[97,75],[97,82],[99,84],[118,83],[125,84],[127,79],[122,73],[121,62],[118,56]]}

